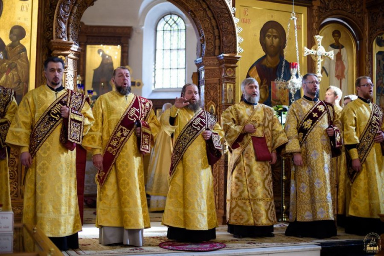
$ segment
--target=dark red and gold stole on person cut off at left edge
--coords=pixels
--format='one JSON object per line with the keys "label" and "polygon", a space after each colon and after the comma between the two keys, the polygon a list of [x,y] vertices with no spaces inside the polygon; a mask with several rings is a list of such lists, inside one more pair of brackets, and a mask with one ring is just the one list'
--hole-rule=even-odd
{"label": "dark red and gold stole on person cut off at left edge", "polygon": [[[5,117],[14,96],[15,92],[12,89],[0,86],[0,119]],[[5,138],[10,125],[9,120],[0,121],[0,159],[6,158],[7,144]]]}

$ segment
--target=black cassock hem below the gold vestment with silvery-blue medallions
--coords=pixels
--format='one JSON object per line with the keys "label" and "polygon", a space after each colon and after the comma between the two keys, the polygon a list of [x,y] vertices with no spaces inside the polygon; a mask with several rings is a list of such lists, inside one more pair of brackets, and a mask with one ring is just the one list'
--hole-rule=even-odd
{"label": "black cassock hem below the gold vestment with silvery-blue medallions", "polygon": [[285,235],[288,237],[330,238],[337,236],[335,221],[294,221],[290,222]]}

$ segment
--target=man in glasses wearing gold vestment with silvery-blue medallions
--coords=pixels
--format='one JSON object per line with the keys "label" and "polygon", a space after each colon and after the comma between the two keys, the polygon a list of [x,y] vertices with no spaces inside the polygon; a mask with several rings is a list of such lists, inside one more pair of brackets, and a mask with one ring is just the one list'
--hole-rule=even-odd
{"label": "man in glasses wearing gold vestment with silvery-blue medallions", "polygon": [[[326,238],[336,236],[332,198],[330,137],[340,126],[329,103],[319,101],[315,74],[303,77],[304,97],[293,102],[285,123],[286,153],[293,155],[289,226],[286,236]],[[332,120],[330,120],[332,119]]]}

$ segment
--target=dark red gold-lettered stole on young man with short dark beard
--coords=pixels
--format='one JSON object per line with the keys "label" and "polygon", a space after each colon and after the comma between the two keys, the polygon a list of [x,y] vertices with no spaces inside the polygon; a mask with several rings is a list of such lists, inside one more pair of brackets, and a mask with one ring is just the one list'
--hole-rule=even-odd
{"label": "dark red gold-lettered stole on young man with short dark beard", "polygon": [[[30,135],[29,153],[32,158],[61,122],[65,123],[61,126],[60,142],[68,150],[74,150],[76,146],[74,143],[81,144],[84,117],[80,111],[85,102],[85,95],[68,90],[49,106],[39,120],[37,120]],[[62,106],[68,106],[70,109],[70,117],[68,119],[61,117],[60,109]]]}

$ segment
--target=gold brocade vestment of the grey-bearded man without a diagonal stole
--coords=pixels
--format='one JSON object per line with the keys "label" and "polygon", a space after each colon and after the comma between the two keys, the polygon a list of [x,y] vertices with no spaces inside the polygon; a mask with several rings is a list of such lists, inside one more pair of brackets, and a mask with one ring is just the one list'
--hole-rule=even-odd
{"label": "gold brocade vestment of the grey-bearded man without a diagonal stole", "polygon": [[[244,133],[248,123],[254,125],[255,133]],[[250,226],[275,224],[271,165],[269,161],[257,160],[250,136],[265,137],[269,152],[276,152],[276,148],[288,142],[282,125],[269,106],[241,101],[224,111],[222,126],[229,146],[234,142],[240,144],[231,155],[231,161],[238,160],[232,172],[228,170],[227,222]],[[241,135],[244,137],[238,141]]]}

